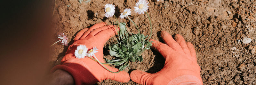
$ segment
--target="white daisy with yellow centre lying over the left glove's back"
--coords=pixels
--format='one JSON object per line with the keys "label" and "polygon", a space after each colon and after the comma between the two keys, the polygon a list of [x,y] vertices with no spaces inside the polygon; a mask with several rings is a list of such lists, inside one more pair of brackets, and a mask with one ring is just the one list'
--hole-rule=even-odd
{"label": "white daisy with yellow centre lying over the left glove's back", "polygon": [[88,51],[88,49],[86,48],[86,46],[84,46],[84,45],[77,46],[76,50],[75,50],[76,58],[78,58],[78,59],[84,58],[87,55],[87,51]]}

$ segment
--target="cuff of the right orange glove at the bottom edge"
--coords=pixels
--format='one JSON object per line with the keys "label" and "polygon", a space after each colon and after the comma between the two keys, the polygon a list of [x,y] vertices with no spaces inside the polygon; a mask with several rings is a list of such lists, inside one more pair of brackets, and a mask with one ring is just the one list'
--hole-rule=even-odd
{"label": "cuff of the right orange glove at the bottom edge", "polygon": [[167,85],[203,85],[194,75],[182,75],[172,79]]}

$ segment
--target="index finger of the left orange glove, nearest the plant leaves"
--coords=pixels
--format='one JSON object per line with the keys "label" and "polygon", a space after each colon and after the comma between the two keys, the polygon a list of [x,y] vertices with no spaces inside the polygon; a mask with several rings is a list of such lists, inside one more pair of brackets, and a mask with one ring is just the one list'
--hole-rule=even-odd
{"label": "index finger of the left orange glove, nearest the plant leaves", "polygon": [[108,28],[106,30],[102,30],[100,32],[98,32],[97,34],[95,34],[96,39],[99,39],[100,42],[104,42],[106,43],[108,41],[108,39],[110,39],[112,36],[117,35],[117,31],[119,31],[120,28],[119,27],[111,27]]}

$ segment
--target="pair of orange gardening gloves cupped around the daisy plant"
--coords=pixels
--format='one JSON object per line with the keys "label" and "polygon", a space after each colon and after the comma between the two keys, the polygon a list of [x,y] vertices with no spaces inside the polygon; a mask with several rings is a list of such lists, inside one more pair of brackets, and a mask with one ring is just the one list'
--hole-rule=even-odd
{"label": "pair of orange gardening gloves cupped around the daisy plant", "polygon": [[[176,85],[176,84],[199,84],[202,85],[200,67],[196,61],[196,52],[190,42],[185,42],[181,35],[176,35],[175,40],[165,32],[161,32],[161,37],[166,44],[156,40],[153,41],[152,48],[163,55],[165,64],[162,70],[155,74],[150,74],[140,70],[134,70],[129,75],[125,71],[111,73],[100,64],[88,57],[78,59],[75,57],[76,47],[85,45],[87,48],[99,48],[95,53],[100,62],[103,60],[103,47],[109,38],[117,34],[119,28],[115,25],[98,23],[90,28],[85,28],[77,33],[74,43],[68,47],[66,55],[61,60],[61,65],[52,68],[51,72],[62,69],[70,73],[76,85],[94,84],[101,80],[111,79],[120,82],[132,81],[144,85]],[[117,72],[118,69],[104,65],[109,70]]]}

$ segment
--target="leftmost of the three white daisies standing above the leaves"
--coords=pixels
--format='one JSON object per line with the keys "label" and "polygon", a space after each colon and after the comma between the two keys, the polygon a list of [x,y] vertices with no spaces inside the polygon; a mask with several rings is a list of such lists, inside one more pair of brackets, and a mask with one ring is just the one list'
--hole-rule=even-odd
{"label": "leftmost of the three white daisies standing above the leaves", "polygon": [[105,8],[104,8],[104,10],[106,12],[105,17],[107,17],[107,18],[113,17],[114,13],[116,12],[115,9],[116,9],[115,5],[106,4]]}

